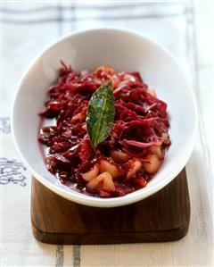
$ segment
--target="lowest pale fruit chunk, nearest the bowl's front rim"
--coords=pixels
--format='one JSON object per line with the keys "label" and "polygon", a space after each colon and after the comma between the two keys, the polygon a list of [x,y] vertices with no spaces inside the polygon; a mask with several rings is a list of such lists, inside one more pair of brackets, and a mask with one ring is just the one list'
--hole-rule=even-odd
{"label": "lowest pale fruit chunk, nearest the bowl's front rim", "polygon": [[95,177],[95,179],[90,180],[86,184],[86,188],[91,191],[95,191],[98,189],[103,189],[106,191],[115,191],[115,185],[112,180],[111,174],[108,171],[105,171]]}

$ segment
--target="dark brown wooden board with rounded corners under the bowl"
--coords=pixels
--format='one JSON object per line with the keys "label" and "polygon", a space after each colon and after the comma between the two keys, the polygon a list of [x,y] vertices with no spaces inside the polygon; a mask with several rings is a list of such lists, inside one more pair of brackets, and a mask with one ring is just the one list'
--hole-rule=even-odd
{"label": "dark brown wooden board with rounded corners under the bowl", "polygon": [[183,238],[190,221],[185,169],[167,187],[136,204],[95,208],[72,203],[32,179],[31,221],[49,244],[116,244]]}

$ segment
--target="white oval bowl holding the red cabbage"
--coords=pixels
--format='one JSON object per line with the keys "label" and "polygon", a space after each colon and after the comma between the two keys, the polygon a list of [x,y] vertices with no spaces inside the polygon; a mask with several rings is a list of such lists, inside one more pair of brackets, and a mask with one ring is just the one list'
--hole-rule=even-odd
{"label": "white oval bowl holding the red cabbage", "polygon": [[[168,104],[172,145],[161,166],[145,188],[116,198],[102,199],[73,191],[46,170],[37,143],[39,116],[45,92],[57,77],[60,60],[77,71],[110,64],[119,71],[140,71]],[[172,56],[139,33],[124,29],[91,29],[62,38],[37,57],[21,79],[13,105],[12,129],[24,164],[45,187],[79,204],[114,207],[131,204],[164,188],[184,168],[196,135],[193,91]]]}

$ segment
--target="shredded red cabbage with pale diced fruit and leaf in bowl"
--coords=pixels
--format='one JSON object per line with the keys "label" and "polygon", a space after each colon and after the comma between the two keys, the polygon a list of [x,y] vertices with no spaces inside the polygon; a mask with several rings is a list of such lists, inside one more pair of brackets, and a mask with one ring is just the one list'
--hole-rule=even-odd
{"label": "shredded red cabbage with pale diced fruit and leaf in bowl", "polygon": [[[144,188],[170,146],[167,104],[139,72],[62,63],[39,113],[38,141],[48,171],[89,196],[125,196]],[[50,121],[50,126],[44,126]]]}

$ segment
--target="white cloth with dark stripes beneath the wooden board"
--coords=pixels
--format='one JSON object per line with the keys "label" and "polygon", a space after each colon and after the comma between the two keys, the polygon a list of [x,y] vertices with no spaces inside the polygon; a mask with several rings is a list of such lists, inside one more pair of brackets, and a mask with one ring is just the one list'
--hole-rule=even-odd
{"label": "white cloth with dark stripes beneath the wooden board", "polygon": [[[200,72],[198,68],[193,4],[5,1],[2,5],[1,266],[212,266],[214,164],[208,124],[213,121],[208,114],[213,92],[210,72]],[[137,29],[156,39],[169,48],[194,85],[202,123],[187,164],[192,217],[189,233],[177,242],[52,246],[33,238],[30,174],[14,148],[10,129],[12,98],[23,71],[45,46],[73,30],[97,26]]]}

